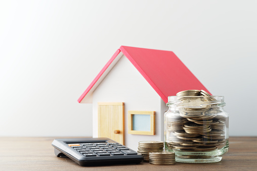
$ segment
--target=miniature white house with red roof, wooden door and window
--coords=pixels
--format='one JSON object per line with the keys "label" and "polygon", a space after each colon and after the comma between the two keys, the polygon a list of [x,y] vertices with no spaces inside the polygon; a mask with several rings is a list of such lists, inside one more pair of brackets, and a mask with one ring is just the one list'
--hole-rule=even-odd
{"label": "miniature white house with red roof, wooden door and window", "polygon": [[93,103],[93,137],[137,150],[163,141],[167,97],[188,89],[207,91],[172,51],[121,46],[78,102]]}

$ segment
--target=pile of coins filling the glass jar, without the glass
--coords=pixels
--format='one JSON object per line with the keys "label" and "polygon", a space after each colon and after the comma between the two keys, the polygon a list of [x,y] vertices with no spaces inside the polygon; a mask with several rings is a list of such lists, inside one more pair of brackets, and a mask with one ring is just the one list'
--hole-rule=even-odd
{"label": "pile of coins filling the glass jar, without the glass", "polygon": [[177,96],[181,97],[180,110],[166,117],[165,145],[179,151],[211,151],[223,147],[226,118],[219,115],[219,108],[211,107],[216,99],[204,90],[181,91]]}

